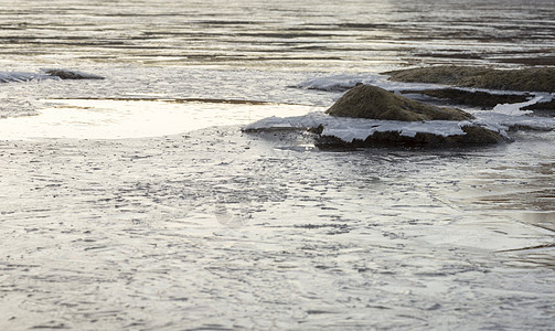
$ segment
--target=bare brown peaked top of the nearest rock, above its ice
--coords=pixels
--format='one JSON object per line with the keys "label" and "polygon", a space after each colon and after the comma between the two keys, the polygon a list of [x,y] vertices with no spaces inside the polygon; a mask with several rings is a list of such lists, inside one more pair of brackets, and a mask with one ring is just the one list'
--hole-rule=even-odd
{"label": "bare brown peaked top of the nearest rock, above its ice", "polygon": [[359,85],[351,88],[325,113],[338,117],[404,121],[473,118],[472,115],[460,109],[419,103],[372,85]]}

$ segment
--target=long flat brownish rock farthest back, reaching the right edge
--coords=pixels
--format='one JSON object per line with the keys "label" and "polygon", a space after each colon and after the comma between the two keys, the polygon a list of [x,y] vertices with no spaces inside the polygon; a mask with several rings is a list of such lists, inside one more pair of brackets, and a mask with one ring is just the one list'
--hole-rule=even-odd
{"label": "long flat brownish rock farthest back, reaching the right edge", "polygon": [[384,73],[406,83],[434,83],[504,90],[555,92],[555,67],[493,70],[472,66],[430,66]]}

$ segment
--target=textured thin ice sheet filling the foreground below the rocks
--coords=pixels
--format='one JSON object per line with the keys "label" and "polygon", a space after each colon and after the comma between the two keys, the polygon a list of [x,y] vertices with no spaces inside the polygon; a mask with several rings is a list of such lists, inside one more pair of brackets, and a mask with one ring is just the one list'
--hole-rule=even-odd
{"label": "textured thin ice sheet filling the foreground below the rocks", "polygon": [[549,329],[555,137],[521,136],[346,152],[237,126],[4,140],[1,324]]}

